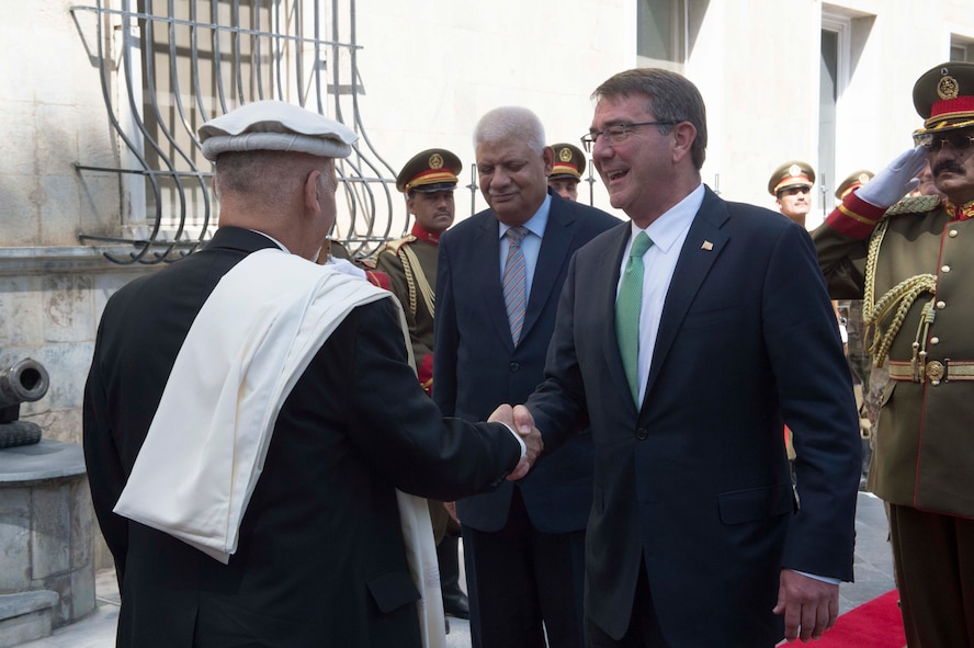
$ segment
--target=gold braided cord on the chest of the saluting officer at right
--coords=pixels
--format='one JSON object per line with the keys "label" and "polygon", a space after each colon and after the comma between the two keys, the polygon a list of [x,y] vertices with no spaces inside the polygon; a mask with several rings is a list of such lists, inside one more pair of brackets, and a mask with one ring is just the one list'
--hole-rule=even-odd
{"label": "gold braided cord on the chest of the saluting officer at right", "polygon": [[[933,294],[937,288],[937,277],[932,274],[918,274],[906,278],[886,292],[875,300],[876,260],[880,255],[880,246],[890,225],[888,217],[884,217],[873,231],[869,241],[869,255],[865,259],[865,286],[862,299],[862,319],[865,323],[867,340],[871,340],[869,353],[873,356],[876,366],[883,366],[890,354],[890,346],[903,327],[903,320],[920,293]],[[895,310],[895,312],[894,312]],[[884,322],[893,314],[893,319],[885,326]],[[927,331],[933,323],[933,300],[924,306],[920,325],[917,328],[917,337],[913,343],[914,375],[922,376],[924,359],[926,357]]]}

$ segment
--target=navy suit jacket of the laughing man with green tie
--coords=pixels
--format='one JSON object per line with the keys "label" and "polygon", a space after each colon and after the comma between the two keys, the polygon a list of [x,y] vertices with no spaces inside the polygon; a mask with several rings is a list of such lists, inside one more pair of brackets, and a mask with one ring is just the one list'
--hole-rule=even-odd
{"label": "navy suit jacket of the laughing man with green tie", "polygon": [[529,401],[545,451],[591,420],[586,613],[622,636],[645,559],[671,645],[771,646],[783,636],[771,614],[782,567],[852,578],[859,422],[815,249],[781,215],[706,190],[636,411],[614,326],[630,231],[576,254]]}

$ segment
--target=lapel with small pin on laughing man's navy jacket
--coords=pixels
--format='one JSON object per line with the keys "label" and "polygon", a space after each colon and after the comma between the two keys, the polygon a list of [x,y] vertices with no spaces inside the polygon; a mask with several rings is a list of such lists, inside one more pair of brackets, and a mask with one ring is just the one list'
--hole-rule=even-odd
{"label": "lapel with small pin on laughing man's navy jacket", "polygon": [[[690,304],[717,257],[727,245],[729,237],[721,228],[728,217],[729,214],[723,201],[707,189],[703,204],[694,216],[690,231],[687,234],[687,240],[680,250],[673,278],[666,294],[662,316],[659,320],[659,331],[656,334],[656,346],[653,350],[649,382],[646,385],[647,397],[656,383],[659,368],[672,346],[683,318],[687,316]],[[645,405],[645,399],[643,402]]]}

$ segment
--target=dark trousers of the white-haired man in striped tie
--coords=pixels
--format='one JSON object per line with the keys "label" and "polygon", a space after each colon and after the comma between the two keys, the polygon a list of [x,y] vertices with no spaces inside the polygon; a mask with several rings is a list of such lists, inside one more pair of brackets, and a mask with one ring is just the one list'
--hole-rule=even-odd
{"label": "dark trousers of the white-haired man in striped tie", "polygon": [[463,525],[463,553],[474,648],[581,648],[584,531],[536,531],[514,488],[503,528]]}

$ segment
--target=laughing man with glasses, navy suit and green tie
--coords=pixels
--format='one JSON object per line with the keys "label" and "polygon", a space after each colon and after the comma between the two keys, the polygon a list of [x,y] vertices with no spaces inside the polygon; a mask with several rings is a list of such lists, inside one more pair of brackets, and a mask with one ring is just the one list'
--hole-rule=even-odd
{"label": "laughing man with glasses, navy suit and green tie", "polygon": [[582,141],[632,223],[576,253],[546,379],[514,408],[554,456],[591,422],[587,640],[818,637],[852,578],[860,448],[815,249],[801,226],[701,184],[704,104],[682,76],[621,72],[593,99]]}

